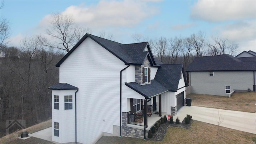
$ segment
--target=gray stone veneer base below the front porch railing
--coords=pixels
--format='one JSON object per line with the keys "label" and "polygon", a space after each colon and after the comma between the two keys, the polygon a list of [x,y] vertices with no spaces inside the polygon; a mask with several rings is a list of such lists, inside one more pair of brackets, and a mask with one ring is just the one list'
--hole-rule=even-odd
{"label": "gray stone veneer base below the front porch railing", "polygon": [[[126,112],[122,112],[122,136],[131,138],[144,138],[144,130],[138,128],[131,128],[127,126],[128,116]],[[146,130],[146,138],[148,138],[148,131]]]}

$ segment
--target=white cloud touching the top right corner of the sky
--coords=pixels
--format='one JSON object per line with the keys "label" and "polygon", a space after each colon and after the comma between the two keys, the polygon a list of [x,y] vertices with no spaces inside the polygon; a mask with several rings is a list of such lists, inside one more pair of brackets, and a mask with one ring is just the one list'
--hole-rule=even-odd
{"label": "white cloud touching the top right corner of the sky", "polygon": [[209,22],[256,18],[255,0],[202,0],[192,7],[192,19]]}

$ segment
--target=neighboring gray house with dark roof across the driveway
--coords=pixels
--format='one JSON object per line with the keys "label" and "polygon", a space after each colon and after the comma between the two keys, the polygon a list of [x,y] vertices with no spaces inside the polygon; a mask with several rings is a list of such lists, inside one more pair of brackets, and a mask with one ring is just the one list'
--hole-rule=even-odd
{"label": "neighboring gray house with dark roof across the driveway", "polygon": [[233,90],[256,88],[256,57],[235,58],[228,54],[197,57],[187,72],[194,94],[229,96]]}

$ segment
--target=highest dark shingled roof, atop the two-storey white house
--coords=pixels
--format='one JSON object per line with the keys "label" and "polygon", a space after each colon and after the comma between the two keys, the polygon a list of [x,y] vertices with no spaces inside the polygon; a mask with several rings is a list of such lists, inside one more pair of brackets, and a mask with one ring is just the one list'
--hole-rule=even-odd
{"label": "highest dark shingled roof, atop the two-storey white house", "polygon": [[[74,52],[74,50],[76,50],[76,48],[78,48],[78,46],[88,37],[122,60],[125,64],[142,65],[145,58],[149,56],[152,61],[152,66],[158,66],[148,46],[148,42],[121,44],[91,34],[85,34],[84,37],[60,60],[60,62],[56,64],[56,66],[59,67],[60,64],[62,64],[62,62],[64,62],[64,60],[66,60],[66,58],[68,58],[68,56],[70,56],[70,54],[72,54],[72,52]],[[148,51],[143,52],[146,47],[148,47]]]}

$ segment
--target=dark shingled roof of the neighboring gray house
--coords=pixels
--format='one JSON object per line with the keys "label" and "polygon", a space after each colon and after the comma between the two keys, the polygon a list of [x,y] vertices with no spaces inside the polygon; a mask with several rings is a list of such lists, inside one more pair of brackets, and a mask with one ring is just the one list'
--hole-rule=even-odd
{"label": "dark shingled roof of the neighboring gray house", "polygon": [[228,54],[220,56],[197,57],[187,71],[241,71],[256,70],[253,58],[235,58]]}

